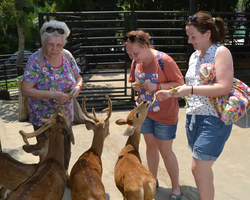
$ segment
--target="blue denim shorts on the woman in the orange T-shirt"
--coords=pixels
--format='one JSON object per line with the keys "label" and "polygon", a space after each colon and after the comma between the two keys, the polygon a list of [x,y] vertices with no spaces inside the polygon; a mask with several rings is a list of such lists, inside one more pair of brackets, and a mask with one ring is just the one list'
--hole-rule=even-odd
{"label": "blue denim shorts on the woman in the orange T-shirt", "polygon": [[176,137],[177,124],[166,125],[146,117],[141,126],[142,134],[153,134],[160,140],[173,140]]}

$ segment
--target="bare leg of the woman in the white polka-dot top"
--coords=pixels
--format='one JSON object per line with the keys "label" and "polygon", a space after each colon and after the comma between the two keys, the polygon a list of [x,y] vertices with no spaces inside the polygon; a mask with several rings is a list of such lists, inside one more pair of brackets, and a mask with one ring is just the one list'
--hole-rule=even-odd
{"label": "bare leg of the woman in the white polka-dot top", "polygon": [[200,200],[214,200],[213,164],[214,161],[203,161],[195,158],[192,160],[192,173]]}

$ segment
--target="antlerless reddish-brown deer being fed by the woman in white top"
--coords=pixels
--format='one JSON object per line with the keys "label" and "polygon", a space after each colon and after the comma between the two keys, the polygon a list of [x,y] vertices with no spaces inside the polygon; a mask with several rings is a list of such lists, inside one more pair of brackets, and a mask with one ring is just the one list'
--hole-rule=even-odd
{"label": "antlerless reddish-brown deer being fed by the woman in white top", "polygon": [[117,125],[127,125],[124,132],[129,136],[120,151],[114,169],[116,187],[124,200],[152,200],[156,192],[156,181],[142,164],[139,153],[140,131],[150,102],[142,101],[125,119],[118,119]]}

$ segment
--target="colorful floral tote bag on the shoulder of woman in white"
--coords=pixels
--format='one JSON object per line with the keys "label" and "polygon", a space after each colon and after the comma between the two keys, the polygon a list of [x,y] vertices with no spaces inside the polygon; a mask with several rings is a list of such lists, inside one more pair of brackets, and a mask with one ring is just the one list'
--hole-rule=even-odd
{"label": "colorful floral tote bag on the shoulder of woman in white", "polygon": [[[212,63],[200,65],[199,76],[203,85],[215,83],[215,66]],[[250,87],[234,78],[228,95],[209,97],[210,103],[217,111],[219,118],[226,124],[232,124],[244,116],[250,109]],[[248,122],[248,119],[247,119]]]}

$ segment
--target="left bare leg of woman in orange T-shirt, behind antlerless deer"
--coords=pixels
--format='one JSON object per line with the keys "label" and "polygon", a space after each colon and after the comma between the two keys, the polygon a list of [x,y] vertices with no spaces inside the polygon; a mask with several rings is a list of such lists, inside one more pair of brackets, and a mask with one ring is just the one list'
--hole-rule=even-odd
{"label": "left bare leg of woman in orange T-shirt, behind antlerless deer", "polygon": [[146,155],[148,169],[153,174],[155,179],[157,179],[157,172],[159,166],[159,150],[156,138],[153,134],[143,134],[144,140],[146,142]]}

